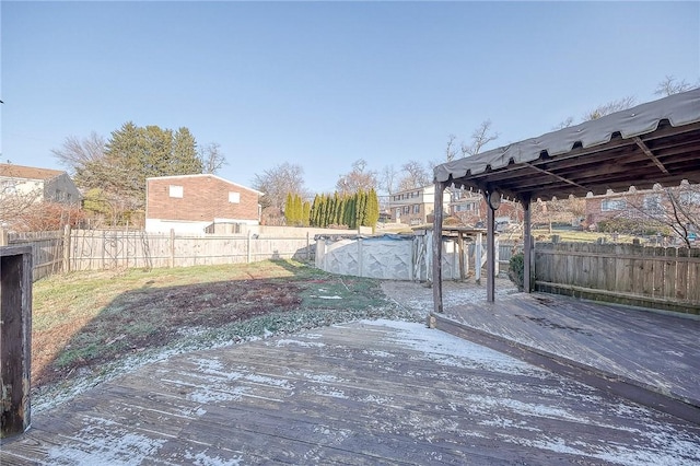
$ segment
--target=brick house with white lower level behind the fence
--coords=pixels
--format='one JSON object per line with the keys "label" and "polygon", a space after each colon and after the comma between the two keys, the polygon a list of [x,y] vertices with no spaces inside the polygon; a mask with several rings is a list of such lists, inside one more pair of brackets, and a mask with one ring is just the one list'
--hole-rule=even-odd
{"label": "brick house with white lower level behind the fence", "polygon": [[215,175],[147,178],[145,231],[237,233],[260,222],[262,193]]}

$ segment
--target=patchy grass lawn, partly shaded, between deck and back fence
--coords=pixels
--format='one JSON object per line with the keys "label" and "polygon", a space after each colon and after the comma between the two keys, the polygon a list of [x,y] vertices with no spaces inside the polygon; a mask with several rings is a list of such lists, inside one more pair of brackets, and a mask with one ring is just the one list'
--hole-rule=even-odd
{"label": "patchy grass lawn, partly shaded, between deck and back fence", "polygon": [[416,319],[378,280],[292,260],[91,271],[34,283],[32,380],[46,389],[163,351],[230,345],[358,318]]}

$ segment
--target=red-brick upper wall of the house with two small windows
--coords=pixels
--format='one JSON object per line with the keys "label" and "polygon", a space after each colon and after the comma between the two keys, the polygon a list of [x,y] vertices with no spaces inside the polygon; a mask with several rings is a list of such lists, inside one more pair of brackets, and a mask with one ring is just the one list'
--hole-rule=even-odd
{"label": "red-brick upper wall of the house with two small windows", "polygon": [[[171,186],[180,186],[183,197],[171,197]],[[229,201],[238,193],[238,202]],[[161,220],[207,221],[258,220],[258,194],[217,176],[198,175],[148,180],[147,217]]]}

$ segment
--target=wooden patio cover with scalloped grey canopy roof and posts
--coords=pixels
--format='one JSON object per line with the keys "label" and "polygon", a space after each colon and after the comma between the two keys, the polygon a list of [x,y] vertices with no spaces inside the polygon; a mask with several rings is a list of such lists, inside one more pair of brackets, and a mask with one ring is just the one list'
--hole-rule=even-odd
{"label": "wooden patio cover with scalloped grey canopy roof and posts", "polygon": [[524,287],[530,290],[530,202],[700,183],[700,89],[638,105],[434,170],[434,311],[442,312],[442,195],[448,186],[487,199],[487,301],[494,301],[494,211],[501,198],[524,209]]}

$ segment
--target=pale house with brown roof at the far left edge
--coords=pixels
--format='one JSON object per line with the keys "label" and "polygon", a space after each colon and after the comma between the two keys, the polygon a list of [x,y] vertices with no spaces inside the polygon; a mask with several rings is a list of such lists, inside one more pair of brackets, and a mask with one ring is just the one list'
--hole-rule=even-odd
{"label": "pale house with brown roof at the far left edge", "polygon": [[0,163],[0,200],[12,197],[66,205],[80,203],[82,198],[63,171]]}

